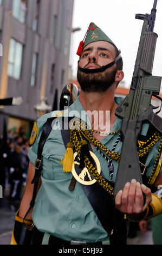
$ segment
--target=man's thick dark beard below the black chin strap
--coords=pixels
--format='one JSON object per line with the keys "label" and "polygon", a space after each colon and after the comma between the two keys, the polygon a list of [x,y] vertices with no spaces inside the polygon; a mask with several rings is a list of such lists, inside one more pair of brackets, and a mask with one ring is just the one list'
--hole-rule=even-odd
{"label": "man's thick dark beard below the black chin strap", "polygon": [[117,69],[108,72],[103,71],[94,74],[85,74],[80,70],[77,70],[77,80],[81,89],[84,92],[106,92],[106,90],[112,86]]}

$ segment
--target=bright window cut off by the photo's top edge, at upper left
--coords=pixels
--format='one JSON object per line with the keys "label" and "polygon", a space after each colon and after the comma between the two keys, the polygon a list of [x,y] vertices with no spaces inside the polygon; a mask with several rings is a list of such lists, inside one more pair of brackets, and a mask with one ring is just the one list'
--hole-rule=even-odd
{"label": "bright window cut off by the photo's top edge, at upper left", "polygon": [[13,0],[12,15],[22,23],[26,20],[27,0]]}

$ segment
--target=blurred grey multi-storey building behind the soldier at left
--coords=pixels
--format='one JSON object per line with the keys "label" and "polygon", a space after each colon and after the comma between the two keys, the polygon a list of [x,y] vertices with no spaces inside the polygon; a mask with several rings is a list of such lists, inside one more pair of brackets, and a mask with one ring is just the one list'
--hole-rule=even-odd
{"label": "blurred grey multi-storey building behind the soldier at left", "polygon": [[68,83],[73,2],[0,0],[0,99],[23,100],[21,106],[1,106],[1,134],[4,119],[8,129],[30,132],[42,97],[51,110],[58,107]]}

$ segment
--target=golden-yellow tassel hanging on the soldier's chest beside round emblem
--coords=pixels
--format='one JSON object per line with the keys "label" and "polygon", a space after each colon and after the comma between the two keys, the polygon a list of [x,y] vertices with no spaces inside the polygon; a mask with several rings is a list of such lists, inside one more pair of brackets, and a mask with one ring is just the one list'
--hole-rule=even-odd
{"label": "golden-yellow tassel hanging on the soldier's chest beside round emblem", "polygon": [[63,159],[61,160],[61,163],[63,164],[63,172],[72,172],[72,167],[74,163],[73,143],[69,142],[67,144],[67,150]]}

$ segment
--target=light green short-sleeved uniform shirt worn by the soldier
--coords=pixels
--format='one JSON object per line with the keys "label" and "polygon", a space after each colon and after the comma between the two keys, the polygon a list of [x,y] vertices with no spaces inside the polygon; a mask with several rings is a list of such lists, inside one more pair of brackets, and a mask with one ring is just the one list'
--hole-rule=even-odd
{"label": "light green short-sleeved uniform shirt worn by the soldier", "polygon": [[[119,104],[121,99],[121,97],[116,97],[116,103]],[[81,105],[79,99],[77,99],[63,114],[67,115],[67,112],[69,115],[77,115],[77,113],[79,113],[80,117],[84,116],[84,118],[86,118],[86,115],[83,114],[85,113],[85,109]],[[33,164],[35,164],[35,160],[37,159],[38,141],[41,136],[43,125],[46,123],[47,118],[52,116],[54,116],[53,112],[43,115],[43,117],[38,120],[38,134],[36,141],[30,148],[28,154],[29,159]],[[121,119],[117,118],[111,132],[117,131],[120,126]],[[55,121],[54,127],[59,127],[58,121]],[[66,153],[66,148],[62,141],[61,130],[54,129],[51,130],[42,152],[42,185],[37,194],[33,210],[33,221],[40,231],[60,237],[63,240],[87,242],[108,240],[108,234],[102,228],[85,192],[83,192],[81,184],[76,182],[73,191],[68,189],[72,179],[72,173],[64,173],[62,170],[60,161]],[[146,134],[147,129],[148,126],[145,125],[142,129],[143,135]],[[101,143],[109,150],[112,150],[118,136],[119,133],[115,135],[107,135],[102,139]],[[157,144],[157,149],[151,150],[147,157],[147,176],[151,175],[154,166],[159,142]],[[122,143],[119,141],[116,145],[115,152],[120,153],[121,146]],[[98,157],[102,172],[109,180],[110,176],[107,160],[105,160],[96,149],[93,150],[93,153]],[[113,166],[113,180],[115,181],[118,163],[114,160]]]}

